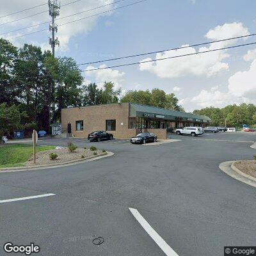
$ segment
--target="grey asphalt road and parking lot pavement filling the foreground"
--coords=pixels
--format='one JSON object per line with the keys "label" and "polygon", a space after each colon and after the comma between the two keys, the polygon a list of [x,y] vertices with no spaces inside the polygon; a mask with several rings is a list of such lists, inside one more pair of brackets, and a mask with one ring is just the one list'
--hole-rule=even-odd
{"label": "grey asphalt road and parking lot pavement filling the foreground", "polygon": [[[125,140],[88,143],[115,156],[47,170],[0,173],[3,244],[35,242],[38,255],[165,255],[129,207],[179,256],[223,255],[223,246],[256,245],[256,190],[221,172],[223,161],[252,159],[256,136],[205,134],[155,147]],[[115,143],[114,143],[115,142]],[[41,145],[66,145],[43,140]],[[94,237],[104,237],[99,246]],[[12,254],[10,254],[12,255]],[[13,254],[16,255],[16,254]]]}

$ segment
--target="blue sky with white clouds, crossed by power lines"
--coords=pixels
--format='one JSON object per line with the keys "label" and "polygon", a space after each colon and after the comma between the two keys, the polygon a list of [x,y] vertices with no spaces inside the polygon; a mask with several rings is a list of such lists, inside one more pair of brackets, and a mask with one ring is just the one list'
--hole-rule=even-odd
{"label": "blue sky with white clouds, crossed by power lines", "polygon": [[[61,5],[73,1],[63,0]],[[255,0],[147,0],[106,12],[139,0],[115,3],[116,1],[80,0],[62,6],[58,17],[60,20],[56,20],[59,25],[57,36],[60,40],[56,55],[71,56],[77,63],[86,63],[162,51],[147,56],[81,66],[81,69],[88,70],[256,42],[256,36],[250,36],[201,47],[164,51],[173,47],[256,33]],[[50,20],[45,2],[47,1],[0,0],[0,36],[13,38],[11,40],[17,46],[27,42],[48,49],[49,24],[37,26]],[[3,17],[38,4],[44,5]],[[104,4],[109,5],[90,10]],[[85,12],[86,10],[89,11]],[[38,12],[43,13],[34,15]],[[72,15],[78,12],[83,13]],[[102,14],[97,15],[98,13]],[[29,15],[31,17],[21,19]],[[68,15],[72,16],[63,18]],[[84,17],[87,18],[65,24]],[[16,19],[20,20],[13,22]],[[61,24],[64,25],[60,26]],[[33,27],[6,33],[28,26]],[[42,29],[45,30],[21,36]],[[83,74],[87,82],[99,83],[99,86],[103,81],[114,81],[116,87],[121,87],[123,92],[152,88],[161,88],[167,93],[174,92],[186,111],[241,102],[256,104],[256,45],[128,67],[85,71]]]}

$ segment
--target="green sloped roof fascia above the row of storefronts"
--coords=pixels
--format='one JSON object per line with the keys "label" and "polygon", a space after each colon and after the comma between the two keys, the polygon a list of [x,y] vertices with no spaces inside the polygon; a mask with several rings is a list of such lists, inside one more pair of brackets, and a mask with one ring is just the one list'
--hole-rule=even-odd
{"label": "green sloped roof fascia above the row of storefronts", "polygon": [[[211,118],[208,116],[202,115],[194,115],[192,113],[186,113],[181,111],[174,111],[165,108],[157,108],[153,106],[147,106],[137,103],[130,103],[130,116],[136,116],[138,112],[140,113],[152,113],[157,115],[164,115],[164,116],[180,116],[182,118],[193,118],[193,119],[200,119],[200,120],[207,120],[211,121]],[[172,119],[172,118],[171,118]]]}

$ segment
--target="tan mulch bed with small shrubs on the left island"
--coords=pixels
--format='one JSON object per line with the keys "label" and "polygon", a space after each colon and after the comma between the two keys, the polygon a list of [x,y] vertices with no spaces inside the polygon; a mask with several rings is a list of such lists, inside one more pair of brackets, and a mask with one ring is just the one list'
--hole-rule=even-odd
{"label": "tan mulch bed with small shrubs on the left island", "polygon": [[[68,148],[51,149],[36,153],[36,163],[34,164],[33,158],[31,158],[26,163],[26,166],[33,166],[39,164],[57,164],[77,159],[86,159],[87,157],[93,156],[93,152],[97,152],[97,155],[102,154],[102,150],[91,151],[90,149],[84,148],[77,148],[74,152],[69,152]],[[57,154],[58,157],[54,160],[51,160],[49,158],[49,154],[51,153]]]}

